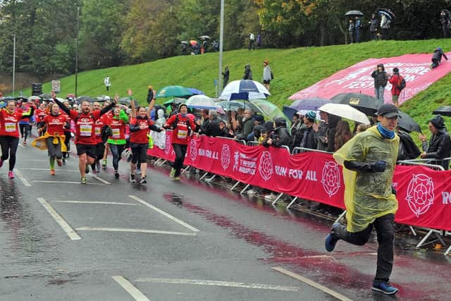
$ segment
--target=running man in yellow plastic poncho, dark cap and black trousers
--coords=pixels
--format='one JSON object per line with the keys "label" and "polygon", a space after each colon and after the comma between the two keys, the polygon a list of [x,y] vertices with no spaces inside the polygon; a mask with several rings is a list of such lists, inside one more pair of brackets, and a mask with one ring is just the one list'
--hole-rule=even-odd
{"label": "running man in yellow plastic poncho, dark cap and black trousers", "polygon": [[332,252],[338,240],[364,245],[376,228],[378,256],[372,290],[393,295],[393,240],[397,199],[392,187],[400,137],[395,134],[399,111],[393,104],[378,109],[378,124],[354,136],[333,155],[343,166],[347,226],[334,223],[325,247]]}

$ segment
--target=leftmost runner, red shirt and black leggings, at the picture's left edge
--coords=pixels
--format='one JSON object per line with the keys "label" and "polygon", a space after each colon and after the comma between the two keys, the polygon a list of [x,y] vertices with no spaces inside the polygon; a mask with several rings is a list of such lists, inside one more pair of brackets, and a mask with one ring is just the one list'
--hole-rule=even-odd
{"label": "leftmost runner, red shirt and black leggings, at the picture's left edge", "polygon": [[6,107],[0,109],[0,168],[9,157],[8,178],[10,179],[14,178],[13,169],[16,165],[16,152],[19,145],[18,123],[22,118],[30,118],[33,115],[33,111],[33,106],[30,106],[30,109],[25,113],[16,111],[15,100],[8,100]]}

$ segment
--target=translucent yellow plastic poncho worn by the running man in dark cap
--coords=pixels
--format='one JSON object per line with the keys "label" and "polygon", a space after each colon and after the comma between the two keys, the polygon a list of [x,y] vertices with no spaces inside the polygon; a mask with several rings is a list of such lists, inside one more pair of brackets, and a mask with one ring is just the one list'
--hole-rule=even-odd
{"label": "translucent yellow plastic poncho worn by the running man in dark cap", "polygon": [[[345,206],[347,209],[347,231],[363,231],[378,217],[395,214],[397,199],[392,192],[400,137],[383,138],[373,126],[348,141],[333,157],[343,166],[345,181]],[[359,161],[371,164],[378,160],[388,163],[382,173],[350,171],[345,161]]]}

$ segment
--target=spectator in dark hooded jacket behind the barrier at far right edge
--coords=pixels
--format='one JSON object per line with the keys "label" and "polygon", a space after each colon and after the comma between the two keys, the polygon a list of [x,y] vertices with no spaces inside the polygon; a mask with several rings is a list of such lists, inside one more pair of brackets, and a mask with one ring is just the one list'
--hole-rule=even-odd
{"label": "spectator in dark hooded jacket behind the barrier at far right edge", "polygon": [[420,156],[422,159],[438,159],[438,161],[431,161],[431,164],[441,165],[445,170],[448,170],[450,161],[443,159],[451,156],[451,140],[450,135],[447,133],[443,117],[440,114],[434,116],[429,121],[428,128],[432,133],[429,145],[426,143],[426,136],[419,135],[423,148]]}

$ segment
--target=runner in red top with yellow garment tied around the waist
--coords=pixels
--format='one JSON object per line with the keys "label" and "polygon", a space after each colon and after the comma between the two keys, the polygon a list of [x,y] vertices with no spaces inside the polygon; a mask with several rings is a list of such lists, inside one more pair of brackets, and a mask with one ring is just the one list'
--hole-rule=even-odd
{"label": "runner in red top with yellow garment tied around the waist", "polygon": [[[60,112],[58,104],[53,104],[50,109],[49,115],[45,116],[42,120],[45,123],[44,128],[47,128],[47,132],[44,136],[37,137],[32,142],[32,146],[39,149],[47,149],[49,152],[50,162],[50,174],[55,175],[55,159],[58,166],[62,165],[61,159],[63,158],[63,152],[67,152],[66,144],[64,143],[65,136],[64,127],[68,125],[66,116]],[[42,128],[38,129],[40,133]]]}

